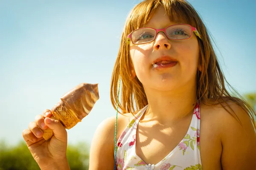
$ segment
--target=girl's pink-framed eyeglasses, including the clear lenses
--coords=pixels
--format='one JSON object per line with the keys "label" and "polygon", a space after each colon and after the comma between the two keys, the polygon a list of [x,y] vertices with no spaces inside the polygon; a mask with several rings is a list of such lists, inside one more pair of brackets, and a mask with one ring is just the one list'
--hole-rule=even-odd
{"label": "girl's pink-framed eyeglasses, including the clear lenses", "polygon": [[188,24],[176,24],[163,29],[139,28],[127,36],[127,41],[128,44],[130,41],[133,44],[145,44],[154,41],[159,32],[164,32],[169,40],[186,40],[192,37],[193,32],[201,39],[201,35],[195,27]]}

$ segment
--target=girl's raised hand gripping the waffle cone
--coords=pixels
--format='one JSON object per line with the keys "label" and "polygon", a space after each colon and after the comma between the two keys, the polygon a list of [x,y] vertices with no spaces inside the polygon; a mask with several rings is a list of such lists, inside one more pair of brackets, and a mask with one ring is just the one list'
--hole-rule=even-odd
{"label": "girl's raised hand gripping the waffle cone", "polygon": [[[33,158],[41,169],[48,169],[60,163],[67,164],[67,131],[61,122],[49,118],[51,115],[50,110],[45,110],[43,115],[35,117],[35,122],[29,123],[29,129],[22,132]],[[42,130],[48,127],[53,130],[54,135],[46,141],[42,137]]]}

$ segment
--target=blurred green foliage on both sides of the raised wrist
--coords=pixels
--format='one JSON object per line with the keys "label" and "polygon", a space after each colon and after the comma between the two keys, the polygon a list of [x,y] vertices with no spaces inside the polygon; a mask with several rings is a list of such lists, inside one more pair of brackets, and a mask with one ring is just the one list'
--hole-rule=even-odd
{"label": "blurred green foliage on both sides of the raised wrist", "polygon": [[[67,160],[71,170],[88,170],[89,150],[86,144],[68,145]],[[0,142],[0,170],[40,170],[26,143],[15,146]]]}

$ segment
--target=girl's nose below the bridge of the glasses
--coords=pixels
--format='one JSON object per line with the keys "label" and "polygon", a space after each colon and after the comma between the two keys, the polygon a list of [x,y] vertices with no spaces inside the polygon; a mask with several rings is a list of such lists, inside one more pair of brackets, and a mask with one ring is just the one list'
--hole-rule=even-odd
{"label": "girl's nose below the bridge of the glasses", "polygon": [[157,51],[159,49],[167,49],[169,50],[171,48],[171,43],[169,42],[168,38],[163,32],[160,32],[157,34],[157,37],[155,39],[154,43],[154,50]]}

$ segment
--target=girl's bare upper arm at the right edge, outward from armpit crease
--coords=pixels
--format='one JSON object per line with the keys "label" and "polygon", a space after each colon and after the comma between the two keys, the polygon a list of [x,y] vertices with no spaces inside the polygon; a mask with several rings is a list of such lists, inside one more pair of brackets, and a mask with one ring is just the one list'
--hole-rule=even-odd
{"label": "girl's bare upper arm at the right edge, outward from armpit crease", "polygon": [[[229,103],[230,104],[230,103]],[[238,105],[230,107],[241,121],[239,122],[224,111],[222,122],[221,166],[223,170],[255,170],[256,169],[256,134],[249,116]],[[227,108],[228,109],[228,108]],[[232,111],[229,109],[232,113]],[[233,114],[234,115],[234,114]],[[234,115],[236,117],[236,115]]]}

